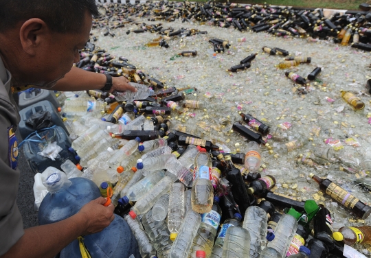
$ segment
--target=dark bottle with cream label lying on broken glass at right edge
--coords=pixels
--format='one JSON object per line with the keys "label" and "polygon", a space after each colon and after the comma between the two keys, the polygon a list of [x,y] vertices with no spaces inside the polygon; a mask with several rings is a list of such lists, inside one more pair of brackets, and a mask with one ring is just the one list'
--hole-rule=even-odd
{"label": "dark bottle with cream label lying on broken glass at right edge", "polygon": [[339,185],[333,183],[333,181],[329,179],[323,179],[319,176],[315,176],[315,174],[309,174],[309,177],[315,180],[318,183],[319,188],[322,191],[326,191],[326,194],[336,200],[337,202],[344,205],[344,207],[350,209],[353,213],[361,217],[363,220],[366,220],[371,213],[371,207],[361,202],[355,196],[348,193],[348,191],[344,190],[343,188],[339,187]]}

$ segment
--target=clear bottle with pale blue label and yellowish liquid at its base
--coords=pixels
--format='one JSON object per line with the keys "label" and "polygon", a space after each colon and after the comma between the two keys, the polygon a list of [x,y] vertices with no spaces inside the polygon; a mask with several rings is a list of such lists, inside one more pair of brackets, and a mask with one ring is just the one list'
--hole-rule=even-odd
{"label": "clear bottle with pale blue label and yellowish liquid at its base", "polygon": [[210,155],[203,151],[194,161],[195,176],[192,184],[192,209],[198,213],[207,213],[212,209],[214,187],[211,182],[212,161]]}

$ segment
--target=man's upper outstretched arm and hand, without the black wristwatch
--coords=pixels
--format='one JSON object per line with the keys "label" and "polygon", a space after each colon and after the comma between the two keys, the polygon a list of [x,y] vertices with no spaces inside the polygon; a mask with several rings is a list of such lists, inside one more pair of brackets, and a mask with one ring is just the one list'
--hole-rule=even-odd
{"label": "man's upper outstretched arm and hand, without the black wristwatch", "polygon": [[[124,76],[112,78],[111,91],[136,91],[136,89],[128,84],[128,79]],[[87,91],[100,90],[106,84],[106,75],[102,73],[93,73],[83,69],[72,67],[71,71],[66,73],[65,78],[58,80],[56,86],[52,88],[54,91]]]}

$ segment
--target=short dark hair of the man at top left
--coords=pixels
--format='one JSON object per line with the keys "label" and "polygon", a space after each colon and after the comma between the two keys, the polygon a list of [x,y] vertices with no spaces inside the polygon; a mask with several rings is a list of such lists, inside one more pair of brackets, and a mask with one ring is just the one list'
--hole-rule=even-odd
{"label": "short dark hair of the man at top left", "polygon": [[38,18],[54,32],[78,33],[87,11],[99,16],[95,0],[0,0],[0,32]]}

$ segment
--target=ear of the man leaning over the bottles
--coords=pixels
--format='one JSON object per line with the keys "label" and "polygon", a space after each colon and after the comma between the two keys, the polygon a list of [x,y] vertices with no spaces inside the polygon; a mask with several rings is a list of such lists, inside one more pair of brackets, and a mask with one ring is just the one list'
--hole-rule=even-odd
{"label": "ear of the man leaning over the bottles", "polygon": [[19,30],[19,39],[23,51],[34,56],[36,54],[36,47],[40,46],[41,40],[48,27],[46,23],[38,18],[32,18],[25,21]]}

